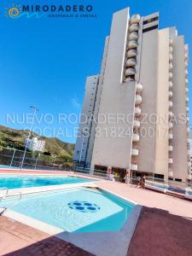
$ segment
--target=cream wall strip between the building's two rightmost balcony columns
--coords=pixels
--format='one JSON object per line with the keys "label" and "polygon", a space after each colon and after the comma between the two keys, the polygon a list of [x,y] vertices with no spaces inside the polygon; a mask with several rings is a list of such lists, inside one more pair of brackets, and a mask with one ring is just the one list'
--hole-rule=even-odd
{"label": "cream wall strip between the building's two rightmost balcony columns", "polygon": [[[174,38],[173,43],[173,89],[172,112],[175,117],[179,114],[186,116],[186,91],[184,75],[184,38]],[[187,129],[186,124],[173,121],[173,152],[172,172],[174,178],[183,181],[188,177],[187,161]]]}

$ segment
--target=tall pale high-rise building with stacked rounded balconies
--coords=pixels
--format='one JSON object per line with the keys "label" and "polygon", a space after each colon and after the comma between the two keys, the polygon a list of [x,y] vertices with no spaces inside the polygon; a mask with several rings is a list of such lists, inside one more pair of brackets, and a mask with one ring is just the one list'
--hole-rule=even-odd
{"label": "tall pale high-rise building with stacked rounded balconies", "polygon": [[187,181],[190,172],[189,49],[159,13],[113,14],[99,75],[88,77],[73,160],[122,180]]}

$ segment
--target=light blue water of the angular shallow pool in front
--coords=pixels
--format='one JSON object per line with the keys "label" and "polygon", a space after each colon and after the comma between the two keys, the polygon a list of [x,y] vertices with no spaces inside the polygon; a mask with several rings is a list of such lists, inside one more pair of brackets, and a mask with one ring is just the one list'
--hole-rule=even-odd
{"label": "light blue water of the angular shallow pool in front", "polygon": [[[9,207],[6,199],[0,207]],[[122,229],[134,204],[98,189],[62,189],[25,195],[12,211],[68,232],[97,232]]]}

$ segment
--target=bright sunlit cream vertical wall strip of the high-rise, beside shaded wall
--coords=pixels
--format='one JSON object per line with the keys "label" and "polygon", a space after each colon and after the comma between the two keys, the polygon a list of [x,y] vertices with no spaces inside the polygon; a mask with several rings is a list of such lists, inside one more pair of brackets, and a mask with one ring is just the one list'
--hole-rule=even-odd
{"label": "bright sunlit cream vertical wall strip of the high-rise, beside shaded wall", "polygon": [[157,125],[155,134],[154,173],[168,178],[168,122],[169,111],[169,28],[158,32],[158,67],[157,67]]}

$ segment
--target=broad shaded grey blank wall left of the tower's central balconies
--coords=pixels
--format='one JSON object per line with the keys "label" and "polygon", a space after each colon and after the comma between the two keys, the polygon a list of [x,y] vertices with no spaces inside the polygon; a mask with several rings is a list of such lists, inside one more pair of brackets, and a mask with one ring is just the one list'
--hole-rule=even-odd
{"label": "broad shaded grey blank wall left of the tower's central balconies", "polygon": [[[125,59],[125,44],[127,29],[129,24],[128,9],[123,9],[113,15],[113,22],[108,44],[108,56],[102,85],[102,96],[99,108],[101,114],[119,113],[127,114],[134,112],[135,83],[121,84],[122,72]],[[117,134],[122,130],[132,131],[132,123],[109,124],[105,122],[96,125],[97,131],[102,131],[102,136],[98,134],[95,139],[91,167],[95,165],[130,167],[131,161],[131,135],[121,135],[121,137],[111,137],[110,129],[115,128]],[[107,131],[107,135],[105,135]]]}

